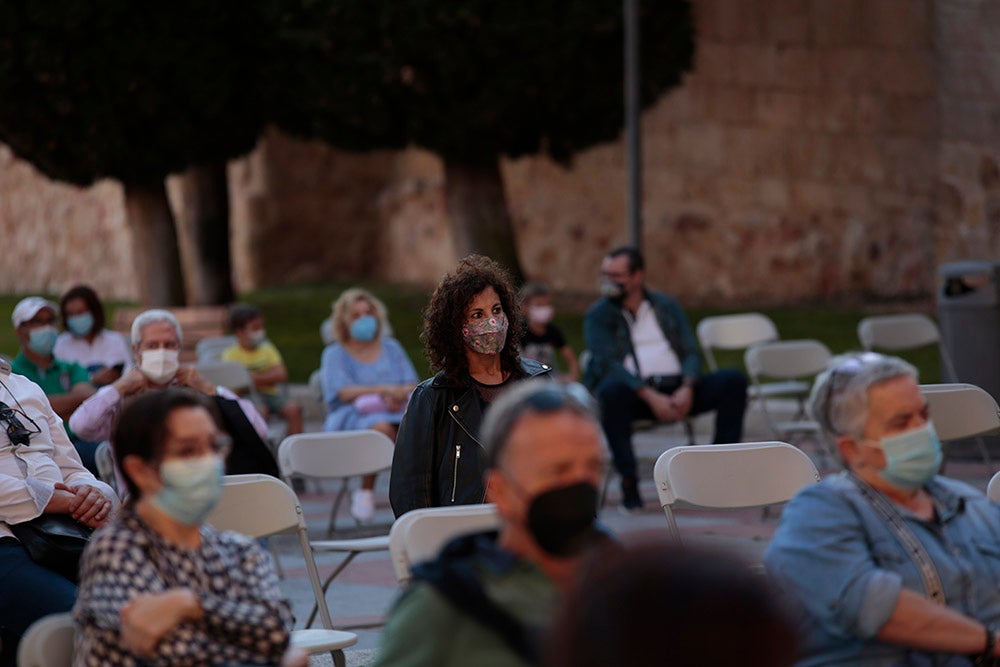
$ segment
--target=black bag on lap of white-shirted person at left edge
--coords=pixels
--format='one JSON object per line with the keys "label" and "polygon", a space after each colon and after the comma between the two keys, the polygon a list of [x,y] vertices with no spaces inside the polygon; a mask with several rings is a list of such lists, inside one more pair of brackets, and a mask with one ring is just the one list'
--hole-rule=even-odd
{"label": "black bag on lap of white-shirted person at left edge", "polygon": [[43,514],[31,521],[9,524],[31,560],[58,572],[73,583],[80,575],[80,556],[93,528],[68,514]]}

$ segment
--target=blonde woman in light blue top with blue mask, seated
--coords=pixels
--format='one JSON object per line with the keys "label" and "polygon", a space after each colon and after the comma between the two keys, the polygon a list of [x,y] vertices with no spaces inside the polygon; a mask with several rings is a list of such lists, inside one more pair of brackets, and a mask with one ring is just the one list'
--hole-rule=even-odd
{"label": "blonde woman in light blue top with blue mask, seated", "polygon": [[[333,304],[336,342],[323,350],[320,366],[324,429],[349,431],[374,429],[396,440],[417,372],[402,345],[387,335],[385,305],[371,292],[354,287]],[[374,512],[375,476],[362,480],[354,492],[351,514],[362,523]]]}

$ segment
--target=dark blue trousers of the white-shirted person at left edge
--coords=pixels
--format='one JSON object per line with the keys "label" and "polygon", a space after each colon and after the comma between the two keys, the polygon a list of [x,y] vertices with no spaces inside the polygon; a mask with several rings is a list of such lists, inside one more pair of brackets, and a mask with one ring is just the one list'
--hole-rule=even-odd
{"label": "dark blue trousers of the white-shirted person at left edge", "polygon": [[32,623],[69,611],[76,586],[28,557],[20,542],[0,540],[0,667],[17,664],[17,645]]}

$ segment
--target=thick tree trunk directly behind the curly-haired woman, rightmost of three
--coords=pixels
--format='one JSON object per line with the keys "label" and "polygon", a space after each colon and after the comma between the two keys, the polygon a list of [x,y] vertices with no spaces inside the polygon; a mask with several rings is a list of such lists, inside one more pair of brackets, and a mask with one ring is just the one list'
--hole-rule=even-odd
{"label": "thick tree trunk directly behind the curly-haired woman, rightmost of three", "polygon": [[500,163],[474,165],[445,159],[444,170],[458,256],[471,252],[487,255],[506,266],[517,284],[522,283],[524,272],[504,198]]}

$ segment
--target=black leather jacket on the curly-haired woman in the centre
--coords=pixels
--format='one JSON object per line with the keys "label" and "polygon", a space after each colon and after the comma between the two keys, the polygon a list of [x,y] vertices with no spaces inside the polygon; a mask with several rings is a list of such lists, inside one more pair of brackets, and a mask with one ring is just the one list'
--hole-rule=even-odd
{"label": "black leather jacket on the curly-haired woman in the centre", "polygon": [[[552,370],[532,359],[522,359],[521,367],[527,377]],[[471,378],[456,385],[443,372],[413,390],[396,435],[389,478],[389,501],[397,517],[420,507],[485,499],[486,452],[479,441],[483,410],[476,392]]]}

